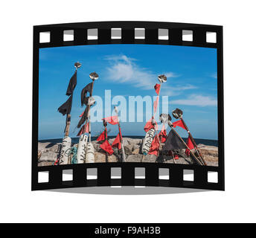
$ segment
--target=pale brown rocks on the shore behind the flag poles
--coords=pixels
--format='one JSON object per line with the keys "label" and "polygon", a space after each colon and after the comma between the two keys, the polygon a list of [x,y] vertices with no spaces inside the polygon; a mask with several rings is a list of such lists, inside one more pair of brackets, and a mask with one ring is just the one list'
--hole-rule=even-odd
{"label": "pale brown rocks on the shore behind the flag poles", "polygon": [[[127,162],[141,162],[142,153],[141,146],[143,139],[135,138],[123,138],[124,139],[124,151],[127,155]],[[109,139],[109,143],[112,144],[114,139]],[[95,147],[95,163],[105,163],[106,154],[100,149],[100,143],[97,141],[92,141]],[[76,144],[73,144],[76,145]],[[38,143],[38,166],[49,166],[53,165],[56,161],[59,150],[60,143],[51,142],[39,142]],[[198,145],[200,152],[205,159],[208,166],[218,166],[218,147],[207,146],[204,144]],[[176,164],[191,164],[191,158],[185,155],[185,149],[179,151],[179,159],[176,160]],[[114,149],[114,153],[108,156],[109,162],[118,162],[118,150]],[[156,155],[146,155],[144,156],[144,162],[156,162]],[[173,159],[170,156],[164,155],[164,163],[173,163]]]}

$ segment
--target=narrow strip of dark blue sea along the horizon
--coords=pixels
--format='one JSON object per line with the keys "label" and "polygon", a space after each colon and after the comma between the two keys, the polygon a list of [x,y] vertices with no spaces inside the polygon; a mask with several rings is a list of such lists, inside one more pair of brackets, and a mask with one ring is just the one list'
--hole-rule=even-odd
{"label": "narrow strip of dark blue sea along the horizon", "polygon": [[[123,136],[123,138],[129,137],[129,138],[135,138],[135,139],[143,139],[144,136],[138,136],[138,135],[129,135],[129,136]],[[108,136],[108,138],[115,138],[115,136]],[[79,141],[78,137],[71,138],[72,143],[77,144]],[[92,136],[92,141],[95,141],[97,137]],[[183,138],[184,141],[187,141],[187,138]],[[207,139],[199,139],[199,138],[194,138],[196,141],[196,144],[205,144],[208,146],[218,146],[218,141],[216,140],[207,140]],[[40,140],[39,142],[51,142],[51,143],[61,143],[63,141],[63,138],[57,138],[57,139],[48,139],[48,140]]]}

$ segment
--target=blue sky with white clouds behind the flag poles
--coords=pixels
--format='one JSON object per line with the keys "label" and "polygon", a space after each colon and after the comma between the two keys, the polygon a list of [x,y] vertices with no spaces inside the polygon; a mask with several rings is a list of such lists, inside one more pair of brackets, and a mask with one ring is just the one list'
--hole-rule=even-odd
{"label": "blue sky with white clouds behind the flag poles", "polygon": [[[112,99],[122,95],[156,96],[154,86],[159,83],[159,74],[167,76],[167,82],[161,86],[159,113],[163,106],[168,106],[171,115],[173,109],[183,111],[183,119],[194,138],[217,140],[217,50],[176,45],[80,45],[58,48],[41,48],[39,50],[39,140],[63,138],[65,116],[57,109],[68,100],[65,91],[74,74],[74,62],[81,62],[77,71],[77,86],[74,89],[71,109],[71,129],[69,136],[76,137],[79,115],[85,106],[80,104],[80,92],[92,80],[89,74],[99,74],[95,81],[93,97],[103,99],[103,115],[110,116],[117,103],[105,105],[105,90],[111,90]],[[167,97],[166,97],[167,96]],[[166,98],[168,100],[166,100]],[[95,106],[100,105],[95,103]],[[95,107],[93,106],[93,107]],[[92,107],[92,108],[93,108]],[[95,107],[96,109],[96,107]],[[137,109],[137,108],[135,108]],[[153,110],[153,109],[152,109]],[[93,112],[93,111],[92,111]],[[145,135],[144,124],[151,116],[135,110],[135,118],[141,116],[143,121],[122,122],[123,135]],[[101,115],[98,115],[101,116]],[[157,118],[158,119],[158,118]],[[176,121],[175,118],[172,121]],[[109,135],[117,135],[118,126],[108,125]],[[159,126],[161,129],[161,126]],[[182,137],[187,133],[177,128]],[[103,131],[102,122],[92,123],[92,135]]]}

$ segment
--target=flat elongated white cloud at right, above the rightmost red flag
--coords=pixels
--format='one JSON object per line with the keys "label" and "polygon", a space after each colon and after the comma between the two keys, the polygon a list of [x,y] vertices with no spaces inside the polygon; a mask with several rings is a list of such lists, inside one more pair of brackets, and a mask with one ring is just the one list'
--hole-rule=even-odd
{"label": "flat elongated white cloud at right, above the rightmost red flag", "polygon": [[217,106],[217,99],[197,94],[191,94],[187,99],[173,100],[170,103],[188,106]]}

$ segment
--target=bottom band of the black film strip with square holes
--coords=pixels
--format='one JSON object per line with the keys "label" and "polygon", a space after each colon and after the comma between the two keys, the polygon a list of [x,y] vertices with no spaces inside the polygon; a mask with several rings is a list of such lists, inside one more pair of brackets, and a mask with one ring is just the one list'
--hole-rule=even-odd
{"label": "bottom band of the black film strip with square holes", "polygon": [[[66,173],[70,175],[68,180],[65,178]],[[216,174],[216,181],[211,181],[211,173]],[[39,167],[32,183],[33,190],[96,186],[160,186],[220,190],[223,176],[217,167],[182,164],[71,164]]]}

